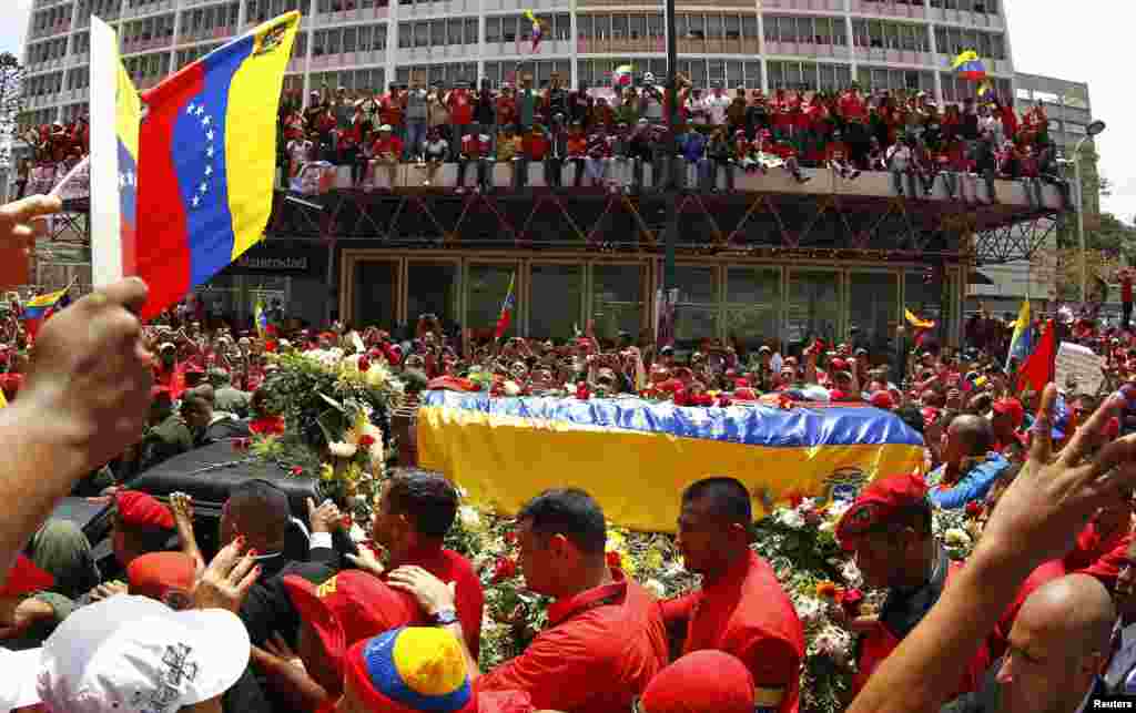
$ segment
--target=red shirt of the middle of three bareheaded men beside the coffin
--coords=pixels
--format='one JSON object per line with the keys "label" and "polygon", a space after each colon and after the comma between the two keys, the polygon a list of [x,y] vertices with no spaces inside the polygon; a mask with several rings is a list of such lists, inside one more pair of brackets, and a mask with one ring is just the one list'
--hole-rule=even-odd
{"label": "red shirt of the middle of three bareheaded men beside the coffin", "polygon": [[521,690],[536,710],[621,713],[668,661],[659,604],[612,570],[615,581],[549,606],[549,626],[520,656],[477,680]]}

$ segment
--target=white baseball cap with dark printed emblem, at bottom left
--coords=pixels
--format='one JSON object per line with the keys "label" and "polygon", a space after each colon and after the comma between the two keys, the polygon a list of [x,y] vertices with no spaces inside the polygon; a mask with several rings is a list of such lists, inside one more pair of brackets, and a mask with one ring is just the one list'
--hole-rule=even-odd
{"label": "white baseball cap with dark printed emblem, at bottom left", "polygon": [[52,713],[176,713],[228,690],[249,649],[231,612],[118,595],[80,609],[44,641],[37,690]]}

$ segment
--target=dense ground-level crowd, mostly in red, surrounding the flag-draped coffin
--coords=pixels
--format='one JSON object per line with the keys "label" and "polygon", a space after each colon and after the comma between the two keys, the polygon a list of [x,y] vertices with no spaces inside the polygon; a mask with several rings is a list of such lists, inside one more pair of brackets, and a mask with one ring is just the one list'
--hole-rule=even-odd
{"label": "dense ground-level crowd, mostly in red, surrounding the flag-draped coffin", "polygon": [[[42,196],[0,208],[0,240],[25,243],[30,223],[59,208]],[[7,350],[24,353],[7,360],[0,409],[0,708],[799,710],[802,622],[751,548],[751,494],[696,463],[675,493],[676,567],[701,586],[675,599],[657,601],[611,562],[588,493],[548,490],[520,509],[510,537],[527,590],[550,601],[548,624],[490,671],[478,665],[478,573],[444,546],[459,509],[445,473],[392,473],[358,554],[336,544],[334,503],[296,513],[268,481],[227,494],[216,554],[199,545],[192,497],[166,505],[131,489],[137,469],[175,453],[283,430],[266,354],[336,349],[419,388],[500,397],[894,411],[922,434],[928,475],[883,473],[835,527],[866,586],[885,595],[877,613],[833,614],[859,637],[849,710],[1077,713],[1094,696],[1136,691],[1136,436],[1120,435],[1136,409],[1128,333],[1061,327],[1109,349],[1114,380],[1101,399],[1076,384],[1020,393],[1002,354],[927,338],[894,354],[707,343],[679,360],[591,328],[559,345],[446,335],[432,316],[398,338],[342,324],[260,334],[201,324],[185,307],[144,326],[145,299],[137,279],[107,286],[47,320],[30,350]],[[18,327],[11,336],[26,339]],[[102,570],[78,528],[48,520],[83,488],[111,509]],[[935,510],[982,513],[964,565],[934,534]]]}

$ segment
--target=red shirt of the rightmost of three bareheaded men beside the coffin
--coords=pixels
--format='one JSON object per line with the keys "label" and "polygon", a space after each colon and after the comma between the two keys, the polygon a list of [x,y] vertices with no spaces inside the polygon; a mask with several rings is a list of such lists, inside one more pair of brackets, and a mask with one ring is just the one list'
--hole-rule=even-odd
{"label": "red shirt of the rightmost of three bareheaded men beside the coffin", "polygon": [[804,627],[772,568],[755,552],[700,592],[663,602],[661,611],[668,626],[686,620],[684,654],[705,648],[733,654],[753,674],[757,702],[770,702],[762,707],[797,710]]}

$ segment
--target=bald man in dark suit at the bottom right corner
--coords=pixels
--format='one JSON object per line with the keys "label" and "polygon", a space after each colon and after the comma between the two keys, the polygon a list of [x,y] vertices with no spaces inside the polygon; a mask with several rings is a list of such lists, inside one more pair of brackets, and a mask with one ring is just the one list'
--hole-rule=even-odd
{"label": "bald man in dark suit at the bottom right corner", "polygon": [[1080,713],[1105,693],[1117,611],[1108,590],[1087,574],[1068,574],[1029,595],[1010,631],[1010,651],[984,686],[939,713]]}

